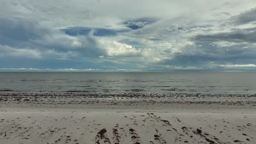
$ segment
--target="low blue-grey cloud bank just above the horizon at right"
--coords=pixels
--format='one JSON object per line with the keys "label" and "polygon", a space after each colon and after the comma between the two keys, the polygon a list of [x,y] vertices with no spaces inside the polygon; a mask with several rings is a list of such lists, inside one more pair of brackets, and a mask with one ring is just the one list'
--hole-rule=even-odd
{"label": "low blue-grey cloud bank just above the horizon at right", "polygon": [[177,65],[182,67],[205,65],[211,63],[246,64],[255,63],[256,49],[253,45],[237,44],[232,46],[215,46],[208,43],[196,43],[200,46],[187,45],[182,52],[174,53],[173,58],[159,62],[162,65]]}

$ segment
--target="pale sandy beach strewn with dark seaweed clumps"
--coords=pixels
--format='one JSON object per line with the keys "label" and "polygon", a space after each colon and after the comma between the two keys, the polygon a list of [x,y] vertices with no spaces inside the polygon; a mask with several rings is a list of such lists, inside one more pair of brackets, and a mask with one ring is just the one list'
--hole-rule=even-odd
{"label": "pale sandy beach strewn with dark seaweed clumps", "polygon": [[1,93],[0,143],[256,143],[256,95]]}

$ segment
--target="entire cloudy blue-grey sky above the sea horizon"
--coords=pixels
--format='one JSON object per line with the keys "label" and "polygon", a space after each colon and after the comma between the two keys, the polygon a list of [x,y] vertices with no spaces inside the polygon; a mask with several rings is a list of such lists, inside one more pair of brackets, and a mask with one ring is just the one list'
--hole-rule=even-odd
{"label": "entire cloudy blue-grey sky above the sea horizon", "polygon": [[255,0],[0,0],[0,71],[256,70]]}

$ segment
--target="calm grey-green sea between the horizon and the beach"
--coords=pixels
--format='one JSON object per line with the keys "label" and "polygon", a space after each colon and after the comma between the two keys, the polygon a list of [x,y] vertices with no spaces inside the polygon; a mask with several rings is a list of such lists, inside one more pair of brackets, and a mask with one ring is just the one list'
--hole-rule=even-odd
{"label": "calm grey-green sea between the horizon and the beach", "polygon": [[256,93],[256,73],[0,73],[0,92]]}

